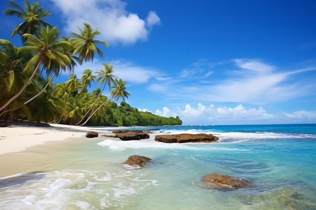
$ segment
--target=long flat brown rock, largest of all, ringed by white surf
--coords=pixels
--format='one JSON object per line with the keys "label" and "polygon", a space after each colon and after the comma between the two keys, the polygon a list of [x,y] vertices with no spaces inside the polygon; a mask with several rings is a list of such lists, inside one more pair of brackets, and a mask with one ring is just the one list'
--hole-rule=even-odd
{"label": "long flat brown rock, largest of all, ringed by white surf", "polygon": [[156,135],[155,141],[164,142],[164,143],[188,143],[188,142],[216,142],[218,141],[218,137],[212,134],[171,134],[171,135]]}

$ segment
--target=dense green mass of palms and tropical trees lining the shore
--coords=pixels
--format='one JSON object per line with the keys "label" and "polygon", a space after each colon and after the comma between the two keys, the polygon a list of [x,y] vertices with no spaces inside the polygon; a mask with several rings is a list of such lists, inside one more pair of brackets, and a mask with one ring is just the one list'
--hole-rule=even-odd
{"label": "dense green mass of palms and tropical trees lining the shore", "polygon": [[[109,46],[96,40],[100,34],[88,23],[79,33],[61,37],[56,26],[43,18],[50,15],[38,2],[24,0],[20,7],[9,1],[4,13],[23,20],[11,33],[20,36],[22,46],[0,39],[0,120],[30,120],[74,125],[177,125],[179,117],[162,117],[130,107],[125,99],[127,81],[115,76],[117,69],[104,62],[103,68],[86,69],[81,77],[76,66],[103,57],[99,46]],[[69,80],[54,83],[62,72]],[[98,83],[95,90],[91,83]],[[103,95],[109,90],[110,96]],[[110,98],[111,97],[111,98]],[[121,100],[120,105],[116,101]]]}

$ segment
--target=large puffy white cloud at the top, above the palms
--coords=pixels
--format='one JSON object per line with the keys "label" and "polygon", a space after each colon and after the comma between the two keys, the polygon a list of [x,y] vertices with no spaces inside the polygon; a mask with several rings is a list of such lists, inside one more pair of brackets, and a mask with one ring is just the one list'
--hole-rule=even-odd
{"label": "large puffy white cloud at the top, above the palms", "polygon": [[125,10],[126,3],[120,0],[50,0],[62,11],[67,24],[66,31],[77,32],[84,22],[101,32],[102,40],[132,44],[146,40],[152,26],[160,24],[153,11],[145,20]]}

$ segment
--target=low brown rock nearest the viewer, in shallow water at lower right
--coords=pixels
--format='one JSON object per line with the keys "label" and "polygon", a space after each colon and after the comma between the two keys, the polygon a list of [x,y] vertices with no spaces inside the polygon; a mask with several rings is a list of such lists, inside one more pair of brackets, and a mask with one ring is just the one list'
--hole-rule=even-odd
{"label": "low brown rock nearest the viewer, in shallow water at lower right", "polygon": [[240,188],[248,186],[248,182],[234,178],[224,174],[208,174],[202,177],[202,181],[210,184],[215,184],[216,188]]}

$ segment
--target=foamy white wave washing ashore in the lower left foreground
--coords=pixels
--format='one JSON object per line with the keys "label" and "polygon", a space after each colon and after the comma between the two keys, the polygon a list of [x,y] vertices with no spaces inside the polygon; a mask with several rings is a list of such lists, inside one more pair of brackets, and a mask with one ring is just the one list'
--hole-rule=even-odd
{"label": "foamy white wave washing ashore in the lower left foreground", "polygon": [[[93,206],[122,206],[124,197],[138,193],[156,182],[139,179],[142,173],[140,170],[129,170],[130,173],[126,173],[124,167],[119,168],[121,171],[68,170],[1,178],[0,183],[9,183],[1,185],[0,209],[94,209]],[[13,182],[10,182],[11,179]]]}

